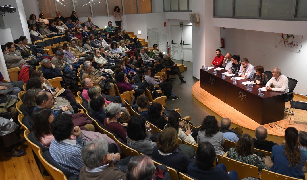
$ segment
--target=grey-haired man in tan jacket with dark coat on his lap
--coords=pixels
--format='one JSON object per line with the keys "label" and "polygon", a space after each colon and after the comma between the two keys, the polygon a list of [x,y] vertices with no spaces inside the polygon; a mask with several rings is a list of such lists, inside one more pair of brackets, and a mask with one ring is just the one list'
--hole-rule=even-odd
{"label": "grey-haired man in tan jacket with dark coat on his lap", "polygon": [[[83,72],[82,73],[82,79],[89,78],[94,83],[94,86],[96,86],[100,82],[100,80],[106,80],[106,78],[103,77],[103,76],[98,77],[97,75],[92,74],[91,73],[91,71],[92,71],[91,64],[88,63],[88,62],[85,62],[83,64],[82,70],[83,70],[82,71]],[[109,95],[115,96],[113,82],[110,82],[110,85],[111,85],[111,89],[108,90]]]}

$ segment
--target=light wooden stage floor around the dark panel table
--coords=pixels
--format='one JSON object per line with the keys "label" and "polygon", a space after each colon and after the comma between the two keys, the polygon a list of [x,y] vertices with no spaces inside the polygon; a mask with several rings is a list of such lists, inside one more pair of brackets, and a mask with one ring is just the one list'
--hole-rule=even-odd
{"label": "light wooden stage floor around the dark panel table", "polygon": [[[225,102],[208,93],[207,91],[201,89],[200,81],[196,82],[193,85],[192,95],[194,96],[194,98],[196,98],[196,100],[207,106],[210,110],[212,110],[220,117],[230,118],[231,123],[243,128],[243,132],[244,129],[255,131],[256,127],[260,126],[260,124],[258,124],[251,118],[232,108]],[[295,96],[294,100],[307,101],[306,97],[304,98],[303,96]],[[285,107],[290,107],[290,102],[286,102]],[[257,113],[257,107],[251,108],[254,108],[255,113]],[[270,113],[269,110],[267,113]],[[289,117],[287,117],[288,113],[285,112],[284,119],[276,122],[276,124],[278,124],[280,127],[275,125],[273,125],[273,127],[270,127],[270,124],[264,124],[262,126],[264,126],[268,130],[269,135],[277,136],[280,138],[283,138],[285,134],[285,129],[283,128],[287,128],[290,126],[295,127],[298,131],[307,131],[307,111],[294,109],[293,113],[295,115],[292,116],[290,125],[290,114]]]}

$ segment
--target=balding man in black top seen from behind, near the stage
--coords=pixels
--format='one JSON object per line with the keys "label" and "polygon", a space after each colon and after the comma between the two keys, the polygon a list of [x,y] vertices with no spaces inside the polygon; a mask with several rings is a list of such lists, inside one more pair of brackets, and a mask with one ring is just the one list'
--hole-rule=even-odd
{"label": "balding man in black top seen from behind, near the stage", "polygon": [[272,152],[272,147],[275,145],[273,141],[267,141],[268,131],[265,127],[259,126],[255,130],[254,145],[256,149]]}

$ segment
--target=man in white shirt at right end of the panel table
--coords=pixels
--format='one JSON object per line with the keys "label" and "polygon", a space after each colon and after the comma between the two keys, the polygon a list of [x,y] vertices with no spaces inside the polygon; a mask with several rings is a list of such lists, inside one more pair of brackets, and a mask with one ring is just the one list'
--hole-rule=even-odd
{"label": "man in white shirt at right end of the panel table", "polygon": [[[288,78],[284,75],[282,75],[282,69],[279,67],[274,68],[273,77],[270,79],[269,82],[266,83],[266,90],[269,91],[280,91],[287,93],[289,92],[288,87]],[[270,86],[273,85],[274,88],[271,88]]]}

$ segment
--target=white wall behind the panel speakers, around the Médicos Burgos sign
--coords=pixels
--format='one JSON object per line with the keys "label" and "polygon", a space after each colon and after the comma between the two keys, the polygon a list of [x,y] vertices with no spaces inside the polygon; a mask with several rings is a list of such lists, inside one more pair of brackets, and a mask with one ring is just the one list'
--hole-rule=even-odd
{"label": "white wall behind the panel speakers, around the M\u00e9dicos Burgos sign", "polygon": [[239,54],[241,59],[248,58],[253,66],[262,65],[268,71],[279,66],[285,76],[298,81],[294,91],[307,94],[304,66],[307,63],[306,36],[303,36],[301,53],[297,53],[275,48],[276,33],[231,28],[221,28],[220,32],[225,38],[225,48],[221,49],[223,55],[227,52]]}

